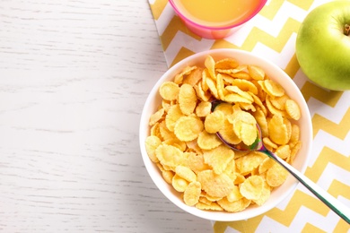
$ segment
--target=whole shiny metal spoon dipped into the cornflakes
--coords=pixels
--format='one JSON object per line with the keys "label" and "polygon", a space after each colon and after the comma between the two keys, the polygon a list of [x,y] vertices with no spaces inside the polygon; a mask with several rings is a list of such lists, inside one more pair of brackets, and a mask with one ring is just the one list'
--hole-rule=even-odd
{"label": "whole shiny metal spoon dipped into the cornflakes", "polygon": [[[212,110],[214,107],[216,107],[218,103],[214,103],[212,106]],[[346,207],[345,204],[339,202],[337,198],[332,196],[331,194],[328,194],[324,189],[316,185],[309,179],[308,177],[305,177],[299,170],[296,168],[293,168],[292,165],[287,163],[286,161],[282,160],[276,154],[274,154],[271,151],[268,151],[265,147],[262,136],[261,136],[261,130],[259,125],[257,124],[257,140],[252,143],[250,146],[245,145],[244,143],[239,144],[232,144],[223,139],[223,136],[219,133],[216,133],[216,135],[219,137],[223,143],[225,143],[228,147],[230,147],[232,150],[235,151],[259,151],[267,154],[269,158],[272,160],[275,160],[277,163],[279,163],[282,167],[284,167],[290,174],[292,174],[293,177],[295,177],[300,183],[302,183],[303,186],[305,186],[307,189],[311,191],[312,194],[316,195],[320,201],[325,203],[329,209],[336,212],[337,215],[339,215],[340,218],[343,220],[346,220],[348,224],[350,224],[350,209]]]}

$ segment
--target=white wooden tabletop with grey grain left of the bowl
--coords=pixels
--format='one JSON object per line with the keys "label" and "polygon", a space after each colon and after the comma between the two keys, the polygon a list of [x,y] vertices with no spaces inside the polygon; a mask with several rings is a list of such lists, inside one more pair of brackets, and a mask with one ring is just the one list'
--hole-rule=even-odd
{"label": "white wooden tabletop with grey grain left of the bowl", "polygon": [[166,69],[147,1],[1,0],[0,231],[212,232],[141,158]]}

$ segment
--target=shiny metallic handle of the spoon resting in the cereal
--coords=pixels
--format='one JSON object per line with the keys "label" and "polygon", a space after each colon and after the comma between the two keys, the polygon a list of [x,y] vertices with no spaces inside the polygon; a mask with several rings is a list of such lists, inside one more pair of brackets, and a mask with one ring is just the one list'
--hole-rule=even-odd
{"label": "shiny metallic handle of the spoon resting in the cereal", "polygon": [[328,194],[328,192],[326,192],[320,186],[313,183],[311,179],[305,177],[299,170],[293,168],[293,166],[276,156],[276,154],[273,152],[268,151],[265,147],[263,147],[260,151],[266,153],[268,157],[275,160],[281,166],[287,169],[293,175],[293,177],[302,183],[303,186],[308,188],[312,194],[316,195],[320,201],[325,203],[332,211],[336,212],[340,218],[346,220],[346,222],[350,224],[350,209],[344,203],[339,202],[337,198],[331,194]]}

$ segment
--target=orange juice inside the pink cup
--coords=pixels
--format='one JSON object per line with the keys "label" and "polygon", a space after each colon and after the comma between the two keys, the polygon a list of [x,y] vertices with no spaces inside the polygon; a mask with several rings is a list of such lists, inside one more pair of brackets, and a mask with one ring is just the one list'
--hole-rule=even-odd
{"label": "orange juice inside the pink cup", "polygon": [[259,0],[173,0],[190,21],[208,27],[245,22],[258,10]]}

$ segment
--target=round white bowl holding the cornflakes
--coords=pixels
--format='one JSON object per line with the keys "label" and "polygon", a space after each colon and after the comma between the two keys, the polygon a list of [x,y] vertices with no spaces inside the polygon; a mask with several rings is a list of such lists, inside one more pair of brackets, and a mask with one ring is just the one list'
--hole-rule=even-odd
{"label": "round white bowl holding the cornflakes", "polygon": [[271,196],[267,202],[261,206],[249,206],[249,208],[244,211],[234,213],[226,211],[202,211],[196,207],[186,205],[182,201],[180,194],[175,191],[171,185],[164,181],[162,178],[162,173],[160,172],[159,168],[157,168],[157,166],[153,163],[153,161],[149,159],[144,146],[145,139],[150,134],[150,127],[148,125],[149,118],[160,106],[162,101],[158,92],[161,84],[166,81],[172,81],[175,74],[179,73],[188,65],[204,66],[204,61],[208,55],[213,56],[214,60],[225,57],[232,57],[235,58],[240,64],[258,65],[264,69],[270,79],[280,83],[284,87],[284,90],[289,95],[289,97],[291,99],[294,99],[299,104],[302,112],[302,117],[298,121],[298,125],[301,128],[302,148],[293,161],[293,167],[297,168],[302,173],[305,171],[305,168],[308,164],[308,159],[311,155],[312,125],[310,111],[306,105],[305,99],[302,97],[301,91],[299,91],[293,80],[277,65],[267,61],[267,59],[263,57],[253,55],[252,53],[246,51],[231,48],[208,50],[205,52],[197,53],[193,56],[188,56],[178,64],[173,65],[166,73],[162,75],[159,81],[156,82],[145,101],[143,113],[141,116],[139,129],[141,154],[144,160],[145,168],[147,169],[150,177],[153,179],[154,184],[161,190],[162,194],[164,194],[172,203],[177,205],[183,211],[187,211],[188,213],[206,220],[247,220],[271,210],[278,203],[281,203],[287,195],[292,194],[298,184],[296,179],[290,175],[282,186],[275,188],[271,192]]}

